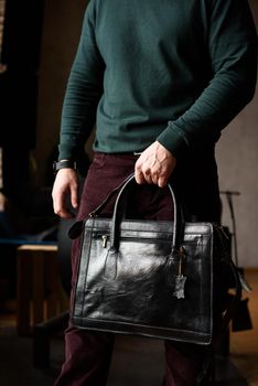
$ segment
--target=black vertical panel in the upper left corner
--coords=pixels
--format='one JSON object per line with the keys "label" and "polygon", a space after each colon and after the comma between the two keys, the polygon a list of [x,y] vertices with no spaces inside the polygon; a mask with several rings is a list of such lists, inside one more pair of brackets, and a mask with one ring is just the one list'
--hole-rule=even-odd
{"label": "black vertical panel in the upper left corner", "polygon": [[44,0],[7,0],[0,74],[0,146],[35,147]]}

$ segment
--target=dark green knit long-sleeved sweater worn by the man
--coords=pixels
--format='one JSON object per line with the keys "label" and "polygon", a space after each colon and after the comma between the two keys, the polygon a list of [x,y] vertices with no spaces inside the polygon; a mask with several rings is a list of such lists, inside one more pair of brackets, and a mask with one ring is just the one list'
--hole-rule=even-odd
{"label": "dark green knit long-sleeved sweater worn by the man", "polygon": [[175,157],[214,143],[251,99],[257,35],[246,0],[92,0],[62,112],[60,159],[94,149]]}

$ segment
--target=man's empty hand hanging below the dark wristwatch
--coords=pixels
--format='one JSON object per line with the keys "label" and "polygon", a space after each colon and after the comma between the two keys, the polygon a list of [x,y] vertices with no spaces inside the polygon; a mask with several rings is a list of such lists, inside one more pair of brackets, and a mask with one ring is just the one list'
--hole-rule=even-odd
{"label": "man's empty hand hanging below the dark wristwatch", "polygon": [[54,213],[62,218],[72,218],[73,214],[68,210],[71,205],[74,210],[78,207],[78,178],[73,169],[58,170],[52,191]]}

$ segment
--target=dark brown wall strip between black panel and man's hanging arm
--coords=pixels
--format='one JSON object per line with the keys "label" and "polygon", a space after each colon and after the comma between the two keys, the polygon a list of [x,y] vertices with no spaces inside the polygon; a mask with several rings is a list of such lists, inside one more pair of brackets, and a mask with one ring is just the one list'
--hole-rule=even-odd
{"label": "dark brown wall strip between black panel and man's hanging arm", "polygon": [[67,76],[78,44],[86,7],[87,0],[45,0],[37,141],[33,152],[42,183],[45,181],[49,159],[58,142],[61,109]]}

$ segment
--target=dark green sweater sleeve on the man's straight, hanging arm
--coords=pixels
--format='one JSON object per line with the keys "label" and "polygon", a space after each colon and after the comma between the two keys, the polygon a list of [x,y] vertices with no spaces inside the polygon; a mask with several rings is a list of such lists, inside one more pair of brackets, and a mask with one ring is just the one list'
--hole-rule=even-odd
{"label": "dark green sweater sleeve on the man's straight, hanging arm", "polygon": [[89,2],[62,109],[58,159],[77,159],[96,120],[105,65],[95,42],[95,14]]}

